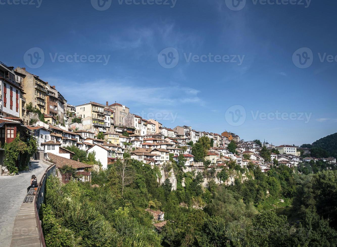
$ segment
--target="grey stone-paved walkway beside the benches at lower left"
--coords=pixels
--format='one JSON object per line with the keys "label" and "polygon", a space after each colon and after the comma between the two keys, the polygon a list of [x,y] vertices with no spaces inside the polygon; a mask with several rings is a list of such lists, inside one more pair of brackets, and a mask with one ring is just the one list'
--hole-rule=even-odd
{"label": "grey stone-paved walkway beside the benches at lower left", "polygon": [[[20,211],[27,194],[32,175],[39,178],[49,165],[42,161],[33,161],[30,171],[21,172],[16,176],[0,176],[0,246],[10,246],[14,219]],[[28,211],[28,210],[27,210]],[[36,225],[36,222],[34,222]],[[16,233],[13,233],[16,234]]]}

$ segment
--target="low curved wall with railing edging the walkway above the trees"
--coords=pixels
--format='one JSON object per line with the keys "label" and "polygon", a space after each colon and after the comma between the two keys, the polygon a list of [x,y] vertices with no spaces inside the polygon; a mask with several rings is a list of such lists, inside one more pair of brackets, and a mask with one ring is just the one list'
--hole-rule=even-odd
{"label": "low curved wall with railing edging the walkway above the trees", "polygon": [[45,247],[45,242],[44,242],[43,231],[42,231],[42,227],[41,227],[41,220],[39,218],[39,212],[40,212],[41,205],[44,201],[45,183],[47,181],[47,178],[51,174],[56,175],[56,164],[55,163],[52,164],[52,163],[49,163],[49,162],[45,162],[45,163],[51,164],[51,166],[49,166],[47,168],[47,170],[45,170],[44,174],[42,175],[42,177],[40,179],[39,186],[38,186],[37,191],[36,191],[35,199],[34,199],[36,225],[37,225],[37,229],[38,229],[38,233],[39,233],[40,244],[43,247]]}

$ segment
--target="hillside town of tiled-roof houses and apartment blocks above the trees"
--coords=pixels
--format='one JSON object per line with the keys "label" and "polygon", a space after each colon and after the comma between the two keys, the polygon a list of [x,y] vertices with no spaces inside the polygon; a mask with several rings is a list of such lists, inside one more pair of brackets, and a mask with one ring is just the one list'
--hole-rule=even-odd
{"label": "hillside town of tiled-roof houses and apartment blocks above the trees", "polygon": [[[0,82],[1,143],[12,142],[18,134],[22,140],[34,136],[37,140],[34,160],[48,160],[54,155],[71,159],[73,152],[67,147],[74,146],[87,154],[94,152],[102,169],[117,159],[123,160],[125,153],[152,167],[161,167],[171,162],[170,158],[178,161],[183,157],[185,172],[223,169],[229,161],[241,168],[259,166],[263,172],[273,165],[296,167],[301,162],[317,160],[336,165],[335,158],[310,157],[310,149],[295,145],[245,141],[226,130],[215,133],[192,126],[165,127],[156,119],[132,114],[132,109],[116,101],[112,104],[90,101],[74,106],[48,81],[26,68],[14,69],[2,62]],[[192,147],[202,137],[208,137],[211,146],[203,160],[196,160]],[[0,153],[1,173],[8,175],[4,151]]]}

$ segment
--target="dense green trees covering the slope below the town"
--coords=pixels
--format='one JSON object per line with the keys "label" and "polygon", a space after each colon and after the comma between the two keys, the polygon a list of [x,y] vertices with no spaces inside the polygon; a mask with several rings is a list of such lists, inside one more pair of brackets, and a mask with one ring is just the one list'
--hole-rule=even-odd
{"label": "dense green trees covering the slope below the town", "polygon": [[[266,175],[250,166],[247,180],[237,177],[225,186],[215,184],[212,170],[183,173],[173,164],[177,190],[171,191],[168,180],[157,182],[159,168],[129,161],[133,179],[123,194],[116,166],[93,173],[92,184],[99,185],[94,188],[76,181],[61,185],[57,177],[48,178],[42,209],[47,246],[337,244],[337,171],[300,175],[280,165]],[[226,179],[232,171],[224,169],[221,177]],[[154,231],[157,221],[145,210],[149,208],[165,213],[160,233]]]}

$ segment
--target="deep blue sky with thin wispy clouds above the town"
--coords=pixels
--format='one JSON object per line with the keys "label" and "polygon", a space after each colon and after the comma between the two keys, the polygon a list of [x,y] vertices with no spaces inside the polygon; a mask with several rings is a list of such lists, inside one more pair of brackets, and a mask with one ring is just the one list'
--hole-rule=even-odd
{"label": "deep blue sky with thin wispy clouds above the town", "polygon": [[[239,11],[227,0],[113,0],[104,11],[93,7],[98,0],[29,1],[33,5],[0,1],[0,60],[56,85],[69,104],[117,101],[167,127],[228,130],[275,145],[311,143],[337,132],[335,1],[246,0]],[[285,3],[269,3],[276,1]],[[24,60],[34,47],[44,54],[39,68]],[[178,62],[171,69],[161,66],[167,47],[174,52],[166,56]],[[302,47],[312,51],[305,69],[296,61],[305,58],[307,48],[295,52]],[[109,59],[62,60],[75,53]],[[221,61],[212,63],[208,54]],[[223,61],[226,55],[233,62]]]}

